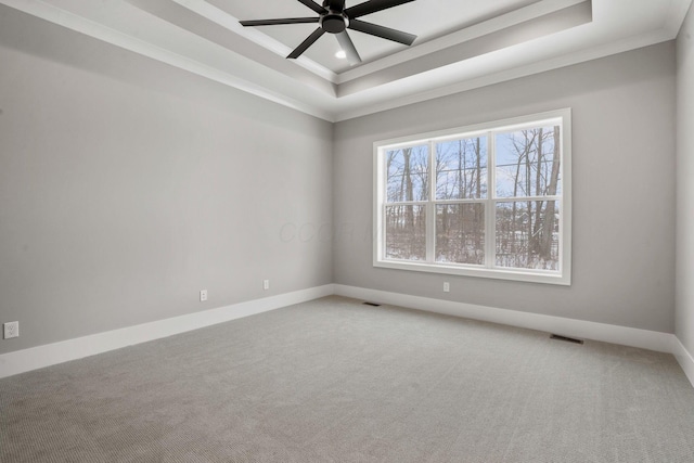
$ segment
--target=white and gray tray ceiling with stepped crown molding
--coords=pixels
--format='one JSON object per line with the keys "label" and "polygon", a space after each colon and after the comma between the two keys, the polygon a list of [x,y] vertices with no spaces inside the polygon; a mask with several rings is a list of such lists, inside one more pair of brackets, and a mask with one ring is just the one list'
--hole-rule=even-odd
{"label": "white and gray tray ceiling with stepped crown molding", "polygon": [[332,121],[671,40],[691,2],[416,0],[363,17],[416,35],[412,47],[350,30],[363,62],[349,66],[330,34],[284,57],[314,24],[239,24],[316,15],[295,0],[0,0]]}

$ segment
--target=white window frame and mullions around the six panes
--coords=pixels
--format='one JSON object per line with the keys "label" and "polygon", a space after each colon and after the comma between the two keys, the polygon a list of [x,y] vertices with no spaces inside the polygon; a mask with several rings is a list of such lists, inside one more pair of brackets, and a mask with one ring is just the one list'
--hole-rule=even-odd
{"label": "white window frame and mullions around the six panes", "polygon": [[[541,126],[560,126],[561,140],[561,164],[560,178],[562,179],[562,194],[557,196],[541,196],[543,201],[556,200],[560,204],[560,262],[558,270],[535,270],[535,269],[515,269],[496,267],[496,204],[509,202],[509,197],[497,196],[496,189],[496,166],[494,166],[494,147],[493,132],[514,131],[525,128],[535,128]],[[434,248],[436,241],[436,214],[435,207],[437,203],[446,203],[446,201],[436,200],[436,169],[433,159],[435,156],[435,144],[446,139],[472,138],[478,136],[487,136],[488,138],[488,155],[487,155],[487,197],[478,200],[454,200],[452,203],[485,203],[485,266],[472,266],[464,263],[445,263],[437,262],[434,259]],[[429,145],[429,194],[426,202],[408,203],[412,205],[425,205],[426,211],[426,261],[386,259],[385,250],[385,228],[383,226],[383,216],[386,207],[386,171],[385,158],[386,152],[397,147],[412,146],[416,144]],[[373,144],[374,158],[374,246],[373,246],[373,266],[398,269],[412,270],[421,272],[434,272],[451,275],[491,278],[499,280],[513,280],[532,283],[548,283],[570,285],[571,284],[571,111],[570,108],[562,108],[547,113],[532,114],[528,116],[514,117],[503,120],[494,120],[490,123],[477,124],[474,126],[458,127],[453,129],[440,130],[428,133],[420,133],[415,136],[401,137],[397,139],[376,141]],[[434,177],[434,179],[432,179]],[[527,196],[524,196],[525,201]],[[540,198],[540,197],[537,197]],[[536,198],[536,200],[537,200]],[[515,200],[517,201],[517,200]],[[397,205],[398,203],[396,203]],[[388,205],[393,205],[388,203]],[[491,237],[491,239],[490,239]]]}

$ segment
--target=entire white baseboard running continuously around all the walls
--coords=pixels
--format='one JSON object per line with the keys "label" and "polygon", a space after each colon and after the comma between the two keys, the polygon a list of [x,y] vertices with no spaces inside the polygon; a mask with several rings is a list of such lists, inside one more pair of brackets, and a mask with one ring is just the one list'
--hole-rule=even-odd
{"label": "entire white baseboard running continuously around all the walls", "polygon": [[340,284],[326,284],[0,355],[0,378],[331,295],[672,353],[694,386],[694,358],[673,334]]}

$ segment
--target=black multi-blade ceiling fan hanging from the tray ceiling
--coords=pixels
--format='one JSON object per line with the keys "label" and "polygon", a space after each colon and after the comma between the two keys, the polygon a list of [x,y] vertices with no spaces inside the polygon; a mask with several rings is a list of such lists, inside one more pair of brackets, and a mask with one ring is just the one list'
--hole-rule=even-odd
{"label": "black multi-blade ceiling fan hanging from the tray ceiling", "polygon": [[256,20],[241,21],[243,26],[273,26],[278,24],[303,24],[318,23],[319,27],[308,36],[290,55],[288,59],[296,59],[301,55],[310,46],[316,42],[323,34],[334,34],[339,42],[339,47],[346,54],[349,64],[361,63],[361,57],[355,48],[347,29],[358,30],[360,33],[381,37],[383,39],[393,40],[399,43],[411,46],[416,36],[403,33],[401,30],[391,29],[389,27],[380,26],[377,24],[367,23],[357,20],[367,14],[377,11],[387,10],[398,7],[402,3],[409,3],[414,0],[370,0],[355,7],[345,8],[345,0],[324,0],[323,5],[316,3],[313,0],[299,0],[306,7],[319,14],[318,17],[286,17],[282,20]]}

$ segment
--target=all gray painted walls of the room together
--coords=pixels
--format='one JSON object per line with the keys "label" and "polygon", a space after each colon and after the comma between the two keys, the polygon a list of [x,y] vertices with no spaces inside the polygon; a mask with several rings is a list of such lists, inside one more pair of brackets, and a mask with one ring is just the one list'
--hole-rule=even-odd
{"label": "all gray painted walls of the room together", "polygon": [[[691,15],[686,27],[678,90],[691,102]],[[22,333],[0,353],[331,282],[674,330],[673,43],[335,126],[5,7],[0,63],[0,322]],[[372,267],[374,141],[566,106],[570,287]],[[690,351],[692,143],[680,130]]]}

